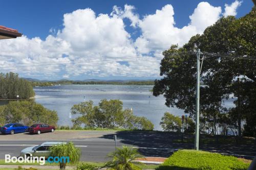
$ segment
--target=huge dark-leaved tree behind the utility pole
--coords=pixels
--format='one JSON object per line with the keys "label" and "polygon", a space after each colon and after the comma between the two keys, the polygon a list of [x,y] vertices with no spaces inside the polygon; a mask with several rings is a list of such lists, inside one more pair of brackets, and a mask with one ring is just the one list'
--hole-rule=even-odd
{"label": "huge dark-leaved tree behind the utility pole", "polygon": [[[168,107],[177,107],[195,118],[196,55],[201,52],[226,54],[231,58],[205,56],[201,70],[200,131],[208,134],[231,132],[237,136],[256,137],[256,61],[232,56],[256,56],[256,8],[244,17],[222,17],[178,47],[163,52],[161,80],[153,88],[155,96],[163,94]],[[177,55],[169,55],[177,54]],[[182,54],[182,55],[178,55]],[[201,55],[202,56],[202,55]],[[232,95],[234,106],[223,104]]]}

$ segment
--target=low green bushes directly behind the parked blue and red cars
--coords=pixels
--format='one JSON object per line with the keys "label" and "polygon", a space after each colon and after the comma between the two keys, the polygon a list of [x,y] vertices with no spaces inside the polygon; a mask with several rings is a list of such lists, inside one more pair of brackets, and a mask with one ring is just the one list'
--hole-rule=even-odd
{"label": "low green bushes directly behind the parked blue and red cars", "polygon": [[49,110],[34,101],[9,101],[0,106],[0,125],[8,123],[22,123],[30,126],[35,123],[57,125],[56,111]]}

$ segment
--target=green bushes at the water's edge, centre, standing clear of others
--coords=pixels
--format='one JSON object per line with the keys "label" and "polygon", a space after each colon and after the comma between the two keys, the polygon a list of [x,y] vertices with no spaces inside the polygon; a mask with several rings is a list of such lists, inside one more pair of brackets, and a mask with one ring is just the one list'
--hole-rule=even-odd
{"label": "green bushes at the water's edge, centre, standing clear of others", "polygon": [[98,106],[93,102],[82,102],[71,108],[72,114],[81,114],[73,119],[74,127],[84,125],[89,128],[123,128],[153,130],[154,125],[145,117],[138,117],[129,109],[123,110],[120,100],[101,100]]}

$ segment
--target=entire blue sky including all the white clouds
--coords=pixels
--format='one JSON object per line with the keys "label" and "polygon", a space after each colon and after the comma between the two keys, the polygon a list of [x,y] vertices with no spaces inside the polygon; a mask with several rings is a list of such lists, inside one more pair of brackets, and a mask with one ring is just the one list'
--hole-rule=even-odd
{"label": "entire blue sky including all the white clouds", "polygon": [[238,1],[1,1],[0,72],[40,80],[159,78],[162,52],[184,45],[220,17],[242,17]]}

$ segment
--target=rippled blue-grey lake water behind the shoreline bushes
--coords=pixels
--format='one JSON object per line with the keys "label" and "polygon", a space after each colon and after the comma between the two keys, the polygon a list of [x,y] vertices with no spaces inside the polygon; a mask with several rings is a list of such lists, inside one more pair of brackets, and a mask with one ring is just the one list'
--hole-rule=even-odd
{"label": "rippled blue-grey lake water behind the shoreline bushes", "polygon": [[[124,85],[61,85],[51,87],[35,87],[35,101],[46,108],[56,110],[59,116],[58,125],[70,125],[69,113],[74,104],[92,100],[97,105],[102,99],[119,99],[124,109],[133,109],[137,116],[145,116],[161,130],[159,125],[164,112],[181,116],[183,110],[168,108],[164,105],[163,96],[155,97],[150,90],[153,86]],[[0,102],[1,103],[1,102]],[[232,100],[225,103],[231,107]],[[78,115],[73,115],[72,118]]]}

